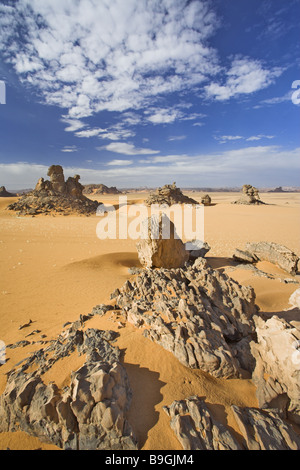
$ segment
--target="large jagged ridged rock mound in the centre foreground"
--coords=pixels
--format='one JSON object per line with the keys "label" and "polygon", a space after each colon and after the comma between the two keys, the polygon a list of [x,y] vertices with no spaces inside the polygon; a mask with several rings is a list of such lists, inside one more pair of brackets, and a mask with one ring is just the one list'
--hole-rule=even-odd
{"label": "large jagged ridged rock mound in the centre foreground", "polygon": [[112,298],[128,322],[185,366],[224,378],[253,370],[254,291],[205,259],[184,269],[147,269]]}

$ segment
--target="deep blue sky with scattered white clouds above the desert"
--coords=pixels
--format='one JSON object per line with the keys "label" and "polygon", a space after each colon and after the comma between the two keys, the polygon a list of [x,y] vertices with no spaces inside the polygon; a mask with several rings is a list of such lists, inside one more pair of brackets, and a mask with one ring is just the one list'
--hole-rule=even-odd
{"label": "deep blue sky with scattered white clouds above the desert", "polygon": [[0,1],[0,185],[61,164],[83,184],[300,186],[299,17],[300,0]]}

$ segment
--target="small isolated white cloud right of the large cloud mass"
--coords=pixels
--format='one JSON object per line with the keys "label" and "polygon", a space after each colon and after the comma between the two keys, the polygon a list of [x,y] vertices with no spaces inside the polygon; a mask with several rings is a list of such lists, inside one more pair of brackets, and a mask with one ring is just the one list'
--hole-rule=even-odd
{"label": "small isolated white cloud right of the large cloud mass", "polygon": [[279,77],[283,68],[268,69],[261,61],[251,58],[235,58],[226,73],[225,83],[213,82],[205,86],[208,98],[225,101],[243,94],[251,94],[267,88]]}

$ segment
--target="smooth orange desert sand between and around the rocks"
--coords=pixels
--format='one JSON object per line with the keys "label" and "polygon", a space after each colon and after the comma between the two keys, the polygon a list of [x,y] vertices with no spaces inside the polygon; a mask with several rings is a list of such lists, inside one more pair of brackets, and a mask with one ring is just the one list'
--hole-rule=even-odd
{"label": "smooth orange desert sand between and around the rocks", "polygon": [[[188,194],[187,192],[185,192]],[[205,240],[211,246],[208,262],[241,284],[255,289],[262,311],[289,308],[289,297],[299,283],[283,282],[291,276],[269,263],[261,270],[276,279],[258,277],[245,269],[232,270],[232,253],[247,241],[273,241],[300,255],[300,194],[261,194],[264,206],[240,206],[231,202],[237,193],[211,193],[213,205],[205,208]],[[201,195],[190,193],[194,199]],[[142,202],[146,193],[128,194],[130,203]],[[128,268],[139,266],[134,240],[99,240],[99,218],[79,216],[17,217],[5,210],[15,199],[0,199],[0,340],[5,344],[25,339],[32,330],[34,340],[56,337],[67,321],[91,312],[100,303],[110,303],[110,293],[131,276]],[[118,196],[99,197],[105,204],[118,204]],[[300,276],[296,276],[300,281]],[[32,329],[19,326],[32,320]],[[124,352],[124,365],[133,389],[129,421],[142,449],[181,449],[162,410],[173,400],[199,395],[218,418],[238,436],[230,405],[257,406],[250,379],[220,380],[199,370],[182,366],[171,353],[144,338],[130,325],[118,329],[109,312],[94,317],[88,327],[112,329],[120,333],[117,345]],[[29,338],[29,339],[30,339]],[[9,349],[0,367],[0,394],[6,373],[37,346]],[[44,376],[59,387],[68,383],[71,370],[81,365],[74,353],[59,361]],[[0,434],[0,449],[57,449],[25,433]]]}

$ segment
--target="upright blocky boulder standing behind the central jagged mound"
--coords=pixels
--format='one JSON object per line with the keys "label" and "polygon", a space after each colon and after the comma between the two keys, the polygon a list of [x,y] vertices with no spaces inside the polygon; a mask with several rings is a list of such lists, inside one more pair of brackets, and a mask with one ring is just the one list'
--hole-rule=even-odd
{"label": "upright blocky boulder standing behind the central jagged mound", "polygon": [[[137,244],[138,257],[147,268],[180,268],[189,255],[172,221],[165,214],[154,214],[143,223],[145,239]],[[168,238],[165,238],[168,237]]]}

